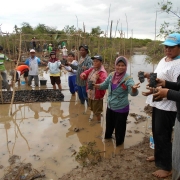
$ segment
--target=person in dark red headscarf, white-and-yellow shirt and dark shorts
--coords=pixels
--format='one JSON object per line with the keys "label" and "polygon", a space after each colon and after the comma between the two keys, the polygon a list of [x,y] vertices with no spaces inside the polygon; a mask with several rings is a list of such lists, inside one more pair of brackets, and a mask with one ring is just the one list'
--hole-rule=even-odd
{"label": "person in dark red headscarf, white-and-yellow shirt and dark shorts", "polygon": [[61,79],[60,79],[60,65],[61,65],[60,60],[56,58],[56,53],[52,51],[50,53],[50,59],[46,67],[46,70],[49,69],[50,71],[50,79],[51,79],[51,84],[53,85],[53,89],[56,89],[56,84],[57,84],[58,89],[62,90]]}

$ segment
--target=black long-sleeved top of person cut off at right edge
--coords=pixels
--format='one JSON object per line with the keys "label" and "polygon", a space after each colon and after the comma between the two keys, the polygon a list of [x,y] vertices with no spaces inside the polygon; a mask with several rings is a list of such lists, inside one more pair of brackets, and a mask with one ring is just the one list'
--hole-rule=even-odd
{"label": "black long-sleeved top of person cut off at right edge", "polygon": [[180,122],[180,75],[177,82],[166,81],[165,88],[168,88],[167,99],[175,101],[177,106],[177,119]]}

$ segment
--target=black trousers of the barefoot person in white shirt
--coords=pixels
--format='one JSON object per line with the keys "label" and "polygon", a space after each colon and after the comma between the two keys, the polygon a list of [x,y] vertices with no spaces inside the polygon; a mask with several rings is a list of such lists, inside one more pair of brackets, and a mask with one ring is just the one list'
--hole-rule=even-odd
{"label": "black trousers of the barefoot person in white shirt", "polygon": [[154,138],[155,165],[165,171],[172,170],[172,128],[176,112],[153,107],[152,132]]}

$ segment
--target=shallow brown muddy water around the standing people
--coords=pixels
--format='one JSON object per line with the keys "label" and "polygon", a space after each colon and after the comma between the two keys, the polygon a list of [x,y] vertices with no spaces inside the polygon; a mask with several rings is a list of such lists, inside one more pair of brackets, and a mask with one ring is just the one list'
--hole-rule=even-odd
{"label": "shallow brown muddy water around the standing people", "polygon": [[[143,55],[135,55],[132,60],[132,76],[136,82],[139,70],[152,71],[152,66],[144,64]],[[128,69],[130,72],[130,69]],[[40,88],[52,88],[49,75],[40,70],[40,78],[47,79],[47,86]],[[135,124],[132,117],[128,117],[130,123],[127,124],[124,145],[115,147],[114,140],[104,142],[102,137],[105,130],[105,110],[101,123],[89,122],[90,111],[86,104],[81,105],[78,97],[71,96],[67,85],[67,74],[62,74],[64,102],[47,103],[27,103],[13,105],[13,114],[9,115],[10,105],[0,105],[0,177],[3,176],[4,169],[8,166],[10,155],[19,155],[21,160],[32,163],[37,170],[44,169],[50,179],[58,179],[63,174],[79,166],[72,155],[74,150],[88,141],[96,141],[97,148],[100,149],[104,157],[111,157],[123,148],[128,148],[139,143],[148,130],[150,117],[144,123]],[[26,88],[26,86],[21,86]],[[145,89],[145,83],[139,89],[138,97],[130,97],[130,113],[145,115],[145,97],[141,92]],[[79,128],[79,132],[74,132],[74,128]],[[139,130],[140,133],[134,133]]]}

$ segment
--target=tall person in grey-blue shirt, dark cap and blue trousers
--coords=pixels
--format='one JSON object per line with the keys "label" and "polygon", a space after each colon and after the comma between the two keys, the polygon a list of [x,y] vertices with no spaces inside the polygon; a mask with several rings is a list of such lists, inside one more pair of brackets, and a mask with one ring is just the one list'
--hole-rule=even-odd
{"label": "tall person in grey-blue shirt, dark cap and blue trousers", "polygon": [[85,70],[92,67],[92,59],[88,55],[89,50],[87,45],[79,46],[80,52],[80,59],[77,69],[77,76],[76,76],[76,84],[78,88],[78,96],[81,101],[81,104],[84,104],[85,100],[88,101],[87,93],[86,93],[86,81],[80,78],[80,74],[83,73]]}

